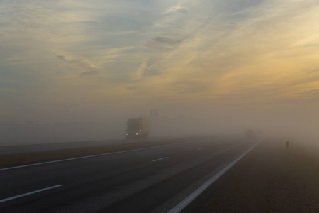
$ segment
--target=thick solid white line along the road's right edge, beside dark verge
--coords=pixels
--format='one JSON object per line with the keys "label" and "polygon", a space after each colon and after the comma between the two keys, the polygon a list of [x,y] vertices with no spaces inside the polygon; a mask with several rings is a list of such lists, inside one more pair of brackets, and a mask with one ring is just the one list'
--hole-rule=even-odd
{"label": "thick solid white line along the road's right edge, beside dark verge", "polygon": [[[259,143],[260,142],[261,141],[259,141]],[[191,193],[191,195],[187,196],[184,200],[179,202],[179,204],[177,204],[174,208],[169,210],[169,212],[167,212],[167,213],[178,213],[178,212],[181,212],[181,210],[183,210],[188,204],[190,204],[193,200],[195,200],[195,198],[198,197],[198,195],[201,195],[201,193],[204,190],[206,190],[210,185],[212,185],[213,182],[218,180],[218,178],[220,178],[221,175],[223,175],[230,168],[232,168],[233,165],[235,165],[240,159],[242,159],[245,155],[247,155],[247,153],[252,151],[252,149],[255,148],[259,143],[257,143],[254,146],[252,146],[252,148],[250,148],[249,150],[245,151],[245,153],[240,155],[236,160],[234,160],[232,163],[228,164],[225,168],[220,170],[216,175],[213,176],[213,178],[211,178],[210,180],[206,181],[203,185],[201,185],[201,187],[198,187],[197,190],[195,190],[193,193]]]}

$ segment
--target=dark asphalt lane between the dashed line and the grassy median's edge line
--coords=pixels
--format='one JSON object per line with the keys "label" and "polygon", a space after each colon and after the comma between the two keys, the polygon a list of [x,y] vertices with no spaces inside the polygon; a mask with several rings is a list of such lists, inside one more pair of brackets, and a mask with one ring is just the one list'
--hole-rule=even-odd
{"label": "dark asphalt lane between the dashed line and the grassy median's edge line", "polygon": [[[48,184],[53,182],[82,183],[88,180],[92,181],[113,177],[114,175],[122,173],[123,170],[130,171],[143,168],[149,164],[149,161],[155,158],[162,158],[163,153],[164,155],[179,155],[178,153],[192,151],[192,147],[196,146],[196,143],[192,143],[190,146],[171,148],[163,146],[155,150],[141,149],[135,152],[118,153],[117,155],[101,155],[96,158],[79,158],[79,160],[57,162],[50,165],[37,165],[33,168],[18,168],[16,170],[8,170],[6,173],[1,171],[2,184],[0,185],[0,191],[4,192],[6,188],[3,187],[11,186],[13,183],[14,188],[18,190],[30,185],[36,186],[39,182],[47,182]],[[92,177],[92,174],[95,175]],[[35,189],[36,188],[38,187],[35,187]]]}

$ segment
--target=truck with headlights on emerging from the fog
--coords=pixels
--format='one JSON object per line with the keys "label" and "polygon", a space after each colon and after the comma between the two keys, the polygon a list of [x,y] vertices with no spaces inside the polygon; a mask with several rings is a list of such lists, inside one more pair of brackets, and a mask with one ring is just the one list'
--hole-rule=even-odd
{"label": "truck with headlights on emerging from the fog", "polygon": [[147,118],[128,119],[126,130],[126,139],[128,138],[147,138],[149,125]]}

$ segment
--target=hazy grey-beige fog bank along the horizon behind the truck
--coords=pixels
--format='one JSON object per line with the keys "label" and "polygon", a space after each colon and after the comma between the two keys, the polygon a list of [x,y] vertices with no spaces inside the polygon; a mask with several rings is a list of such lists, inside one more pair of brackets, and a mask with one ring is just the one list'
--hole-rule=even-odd
{"label": "hazy grey-beige fog bank along the horizon behind the truck", "polygon": [[[186,108],[186,107],[185,107]],[[193,108],[194,109],[194,108]],[[94,120],[87,116],[77,117],[76,121],[40,122],[28,120],[0,124],[1,146],[16,146],[38,143],[61,143],[73,141],[106,141],[124,139],[126,120],[146,116],[150,120],[150,138],[187,137],[187,136],[237,136],[238,141],[245,131],[253,129],[259,138],[280,138],[294,143],[317,144],[318,119],[315,111],[264,111],[212,109],[183,111],[159,109],[125,111],[121,116],[103,115],[105,118]],[[103,114],[103,112],[101,112]],[[118,111],[118,115],[121,111]]]}

